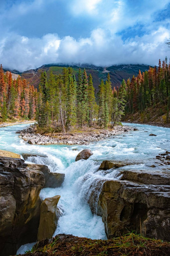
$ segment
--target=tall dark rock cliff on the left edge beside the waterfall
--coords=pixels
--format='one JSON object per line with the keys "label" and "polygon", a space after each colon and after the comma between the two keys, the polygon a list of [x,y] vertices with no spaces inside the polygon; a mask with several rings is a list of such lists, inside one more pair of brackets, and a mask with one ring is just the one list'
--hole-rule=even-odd
{"label": "tall dark rock cliff on the left edge beside the waterfall", "polygon": [[0,255],[7,256],[36,240],[44,175],[19,158],[0,157],[0,163]]}

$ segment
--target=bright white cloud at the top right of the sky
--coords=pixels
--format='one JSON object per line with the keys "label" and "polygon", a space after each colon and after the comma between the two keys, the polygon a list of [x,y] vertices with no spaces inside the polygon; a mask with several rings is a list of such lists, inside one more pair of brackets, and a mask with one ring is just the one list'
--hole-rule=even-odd
{"label": "bright white cloud at the top right of the sky", "polygon": [[136,24],[142,25],[146,31],[151,31],[156,27],[154,14],[166,8],[167,4],[169,4],[169,0],[143,0],[141,3],[136,1],[136,4],[131,5],[127,0],[114,0],[112,8],[102,14],[104,16],[103,26],[112,33],[120,33]]}

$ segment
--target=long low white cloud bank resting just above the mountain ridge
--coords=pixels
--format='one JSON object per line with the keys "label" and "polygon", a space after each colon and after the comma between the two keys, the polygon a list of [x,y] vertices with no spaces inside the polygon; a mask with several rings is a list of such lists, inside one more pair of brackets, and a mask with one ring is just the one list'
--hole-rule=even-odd
{"label": "long low white cloud bank resting just above the mountain ridge", "polygon": [[151,34],[122,41],[120,36],[110,36],[97,29],[89,38],[75,40],[47,34],[42,38],[26,38],[10,34],[0,41],[0,62],[3,67],[20,71],[37,68],[47,63],[89,63],[97,66],[112,64],[156,65],[169,53],[165,45],[169,30],[159,27]]}

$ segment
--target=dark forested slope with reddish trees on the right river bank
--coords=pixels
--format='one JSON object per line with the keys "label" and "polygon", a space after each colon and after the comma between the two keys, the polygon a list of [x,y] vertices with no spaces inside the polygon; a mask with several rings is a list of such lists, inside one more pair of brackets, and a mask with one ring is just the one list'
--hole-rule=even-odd
{"label": "dark forested slope with reddish trees on the right river bank", "polygon": [[159,60],[158,68],[149,68],[126,81],[125,119],[168,123],[170,107],[170,64]]}

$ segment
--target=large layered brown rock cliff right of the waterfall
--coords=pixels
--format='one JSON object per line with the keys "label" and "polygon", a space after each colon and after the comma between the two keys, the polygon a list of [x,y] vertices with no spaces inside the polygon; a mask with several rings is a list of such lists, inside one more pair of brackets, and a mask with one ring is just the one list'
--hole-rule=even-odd
{"label": "large layered brown rock cliff right of the waterfall", "polygon": [[[108,238],[135,230],[143,236],[170,241],[169,171],[120,170],[119,180],[105,180],[97,214]],[[101,186],[101,182],[99,182]],[[95,212],[93,193],[88,202]]]}

